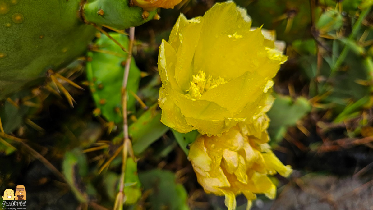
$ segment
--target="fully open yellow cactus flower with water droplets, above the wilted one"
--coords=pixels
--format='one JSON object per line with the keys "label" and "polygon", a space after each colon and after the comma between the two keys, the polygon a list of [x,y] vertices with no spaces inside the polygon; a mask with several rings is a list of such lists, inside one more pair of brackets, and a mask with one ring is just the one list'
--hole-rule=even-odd
{"label": "fully open yellow cactus flower with water droplets, above the wilted one", "polygon": [[272,78],[286,59],[273,33],[252,29],[233,1],[215,4],[203,17],[180,15],[159,51],[161,122],[209,136],[254,123],[269,110]]}

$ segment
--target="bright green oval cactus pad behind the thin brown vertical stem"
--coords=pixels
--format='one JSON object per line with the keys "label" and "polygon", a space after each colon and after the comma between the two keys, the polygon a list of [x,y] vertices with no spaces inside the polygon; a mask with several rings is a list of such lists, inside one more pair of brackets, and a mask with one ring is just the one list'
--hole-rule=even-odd
{"label": "bright green oval cactus pad behind the thin brown vertical stem", "polygon": [[[128,48],[129,40],[126,35],[110,33],[110,36]],[[109,121],[122,122],[122,81],[124,73],[124,63],[127,53],[117,46],[105,35],[95,43],[100,50],[107,53],[88,52],[89,62],[87,63],[87,76],[90,83],[91,92],[96,106],[101,114]],[[115,54],[109,54],[115,53]],[[134,110],[135,98],[131,94],[136,93],[140,82],[140,70],[131,59],[131,66],[128,76],[128,110]]]}

